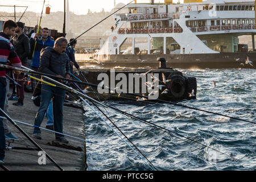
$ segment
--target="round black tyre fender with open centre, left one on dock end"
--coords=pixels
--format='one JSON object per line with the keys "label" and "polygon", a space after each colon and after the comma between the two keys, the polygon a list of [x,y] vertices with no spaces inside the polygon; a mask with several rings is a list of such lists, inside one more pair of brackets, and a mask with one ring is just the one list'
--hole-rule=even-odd
{"label": "round black tyre fender with open centre, left one on dock end", "polygon": [[180,75],[170,75],[168,80],[171,80],[167,84],[171,96],[174,97],[175,100],[183,98],[187,89],[185,78]]}

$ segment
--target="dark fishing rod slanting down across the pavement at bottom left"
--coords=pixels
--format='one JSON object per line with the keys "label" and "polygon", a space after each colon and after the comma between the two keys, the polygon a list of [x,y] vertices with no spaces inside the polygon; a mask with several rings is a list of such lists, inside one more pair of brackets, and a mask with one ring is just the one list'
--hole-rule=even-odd
{"label": "dark fishing rod slanting down across the pavement at bottom left", "polygon": [[[10,122],[11,122],[28,140],[30,140],[30,142],[31,142],[32,144],[34,144],[34,145],[36,146],[36,148],[38,148],[40,151],[44,151],[43,148],[40,147],[39,144],[36,143],[30,136],[28,136],[28,134],[27,134],[25,131],[23,131],[23,130],[16,124],[16,122],[15,122],[13,119],[11,119],[11,118],[9,117],[9,115],[7,115],[7,114],[5,113],[5,111],[3,111],[1,108],[0,108],[0,113],[1,113],[7,120],[9,120],[9,121],[10,121]],[[57,168],[59,168],[61,171],[64,171],[64,169],[61,168],[61,167],[59,166],[59,164],[57,164],[57,163],[55,162],[55,160],[53,160],[53,159],[51,158],[51,156],[49,156],[49,155],[46,153],[46,151],[44,151],[44,152],[45,152],[45,154],[46,154],[46,157],[47,157],[49,160],[51,160],[51,162],[52,162],[53,164],[55,164],[55,166],[56,166]]]}

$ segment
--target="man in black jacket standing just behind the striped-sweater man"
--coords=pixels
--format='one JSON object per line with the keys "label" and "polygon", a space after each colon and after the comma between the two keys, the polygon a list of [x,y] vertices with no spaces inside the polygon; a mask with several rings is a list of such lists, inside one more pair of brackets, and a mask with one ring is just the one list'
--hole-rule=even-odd
{"label": "man in black jacket standing just behind the striped-sweater man", "polygon": [[[27,57],[30,55],[30,40],[27,35],[23,33],[24,24],[22,22],[16,23],[18,27],[16,27],[15,33],[16,35],[13,37],[12,42],[16,53],[19,56],[19,59],[22,61],[22,65],[27,67]],[[23,106],[24,101],[24,82],[22,79],[23,75],[15,75],[16,82],[18,82],[21,87],[16,87],[18,102],[15,102],[13,105],[15,106]]]}

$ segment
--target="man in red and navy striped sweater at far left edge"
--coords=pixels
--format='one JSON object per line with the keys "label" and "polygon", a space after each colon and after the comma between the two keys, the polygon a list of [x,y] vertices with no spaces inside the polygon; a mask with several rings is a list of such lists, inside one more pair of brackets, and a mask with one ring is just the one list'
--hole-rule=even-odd
{"label": "man in red and navy striped sweater at far left edge", "polygon": [[[8,20],[3,24],[3,30],[5,32],[15,31],[16,23],[12,20]],[[0,35],[0,64],[7,64],[7,60],[14,67],[21,67],[21,61],[14,51],[13,44],[10,40]],[[6,97],[6,69],[0,68],[0,108],[3,110],[5,106]],[[0,116],[3,116],[0,113]],[[3,164],[5,158],[5,129],[3,127],[3,119],[0,118],[0,164]]]}

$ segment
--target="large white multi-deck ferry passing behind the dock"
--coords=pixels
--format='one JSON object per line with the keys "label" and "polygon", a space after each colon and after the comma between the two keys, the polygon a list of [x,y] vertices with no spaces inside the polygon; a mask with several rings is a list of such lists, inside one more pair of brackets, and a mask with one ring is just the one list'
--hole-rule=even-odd
{"label": "large white multi-deck ferry passing behind the dock", "polygon": [[[255,2],[133,3],[114,18],[100,51],[77,60],[138,68],[157,67],[157,57],[165,57],[174,68],[255,68]],[[241,35],[251,35],[253,50],[239,43]]]}

